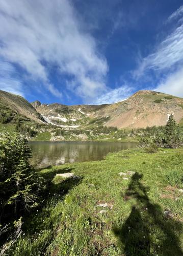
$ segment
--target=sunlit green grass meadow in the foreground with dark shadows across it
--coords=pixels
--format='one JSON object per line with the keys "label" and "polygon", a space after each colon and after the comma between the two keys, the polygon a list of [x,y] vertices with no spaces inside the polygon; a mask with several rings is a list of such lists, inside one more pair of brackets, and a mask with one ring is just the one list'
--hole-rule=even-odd
{"label": "sunlit green grass meadow in the foreground with dark shadows across it", "polygon": [[[135,172],[124,176],[128,180],[119,176],[128,170]],[[9,254],[182,255],[182,171],[182,148],[155,154],[137,148],[103,161],[38,170],[49,193]],[[80,179],[55,178],[67,172]],[[173,218],[166,218],[165,210]]]}

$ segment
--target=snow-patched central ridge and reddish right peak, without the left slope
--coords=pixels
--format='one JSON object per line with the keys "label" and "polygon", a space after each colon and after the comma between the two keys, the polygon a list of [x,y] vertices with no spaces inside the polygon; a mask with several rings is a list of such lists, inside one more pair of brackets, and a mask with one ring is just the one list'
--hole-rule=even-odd
{"label": "snow-patched central ridge and reddish right peak, without the left slope", "polygon": [[35,101],[32,105],[46,122],[80,129],[100,124],[118,128],[165,125],[170,114],[177,122],[183,118],[182,98],[154,91],[138,91],[114,104],[68,106]]}

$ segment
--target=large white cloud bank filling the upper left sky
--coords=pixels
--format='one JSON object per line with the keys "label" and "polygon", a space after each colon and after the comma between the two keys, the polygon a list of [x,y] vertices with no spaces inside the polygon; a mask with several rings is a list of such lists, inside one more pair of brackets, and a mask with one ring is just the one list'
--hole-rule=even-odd
{"label": "large white cloud bank filling the upper left sky", "polygon": [[51,83],[49,67],[53,66],[72,78],[71,89],[84,99],[106,90],[107,61],[98,53],[94,38],[82,30],[69,0],[0,2],[4,59],[41,80],[57,96],[64,88]]}

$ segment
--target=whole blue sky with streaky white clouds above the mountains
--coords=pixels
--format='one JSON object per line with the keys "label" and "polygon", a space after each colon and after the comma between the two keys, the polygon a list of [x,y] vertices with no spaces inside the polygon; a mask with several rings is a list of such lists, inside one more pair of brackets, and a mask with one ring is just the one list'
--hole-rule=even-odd
{"label": "whole blue sky with streaky white clouds above the mountains", "polygon": [[0,90],[32,102],[183,97],[182,0],[0,0]]}

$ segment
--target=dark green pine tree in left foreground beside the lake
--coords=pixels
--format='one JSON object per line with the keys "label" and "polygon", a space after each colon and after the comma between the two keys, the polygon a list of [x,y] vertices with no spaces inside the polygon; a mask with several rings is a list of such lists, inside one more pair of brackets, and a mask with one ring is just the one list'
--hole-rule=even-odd
{"label": "dark green pine tree in left foreground beside the lake", "polygon": [[11,217],[18,217],[38,205],[42,180],[30,166],[30,157],[27,140],[18,134],[5,135],[0,147],[0,217],[7,209]]}

